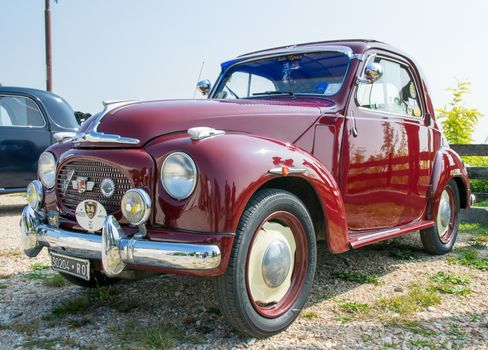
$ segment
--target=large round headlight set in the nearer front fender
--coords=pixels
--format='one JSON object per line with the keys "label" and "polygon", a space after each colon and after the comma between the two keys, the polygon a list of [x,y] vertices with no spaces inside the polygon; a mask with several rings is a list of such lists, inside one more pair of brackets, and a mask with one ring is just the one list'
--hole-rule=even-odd
{"label": "large round headlight set in the nearer front fender", "polygon": [[171,153],[161,167],[161,182],[166,192],[174,199],[188,198],[197,184],[195,162],[186,153]]}

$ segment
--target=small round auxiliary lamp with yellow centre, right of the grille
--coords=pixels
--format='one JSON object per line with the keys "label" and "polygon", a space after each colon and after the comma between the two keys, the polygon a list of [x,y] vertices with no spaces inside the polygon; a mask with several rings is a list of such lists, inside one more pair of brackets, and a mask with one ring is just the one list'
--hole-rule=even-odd
{"label": "small round auxiliary lamp with yellow centre, right of the grille", "polygon": [[132,225],[145,223],[151,214],[151,198],[140,188],[128,190],[120,206],[122,214]]}

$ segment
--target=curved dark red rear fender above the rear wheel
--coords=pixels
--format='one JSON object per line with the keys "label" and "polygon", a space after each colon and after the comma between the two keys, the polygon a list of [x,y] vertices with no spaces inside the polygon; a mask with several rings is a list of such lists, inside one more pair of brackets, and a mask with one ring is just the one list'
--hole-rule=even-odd
{"label": "curved dark red rear fender above the rear wheel", "polygon": [[434,158],[432,191],[429,198],[431,205],[427,212],[429,219],[436,217],[442,191],[451,179],[455,179],[458,185],[461,208],[469,208],[471,190],[464,163],[455,151],[449,147],[441,147]]}

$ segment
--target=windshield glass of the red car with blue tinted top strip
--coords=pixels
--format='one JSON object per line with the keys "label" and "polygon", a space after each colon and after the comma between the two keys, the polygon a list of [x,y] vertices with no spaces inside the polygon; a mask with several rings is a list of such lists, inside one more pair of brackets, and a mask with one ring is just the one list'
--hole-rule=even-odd
{"label": "windshield glass of the red car with blue tinted top strip", "polygon": [[349,56],[338,52],[300,53],[238,63],[223,73],[212,97],[333,96],[342,87],[349,63]]}

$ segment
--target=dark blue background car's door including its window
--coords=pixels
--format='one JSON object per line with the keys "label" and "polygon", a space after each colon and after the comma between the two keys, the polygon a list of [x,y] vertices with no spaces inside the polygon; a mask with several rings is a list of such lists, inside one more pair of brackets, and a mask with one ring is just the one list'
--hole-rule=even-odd
{"label": "dark blue background car's door including its window", "polygon": [[0,191],[35,179],[37,159],[50,144],[48,123],[33,99],[0,95]]}

